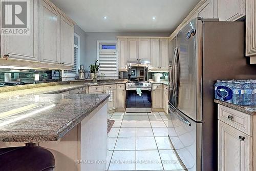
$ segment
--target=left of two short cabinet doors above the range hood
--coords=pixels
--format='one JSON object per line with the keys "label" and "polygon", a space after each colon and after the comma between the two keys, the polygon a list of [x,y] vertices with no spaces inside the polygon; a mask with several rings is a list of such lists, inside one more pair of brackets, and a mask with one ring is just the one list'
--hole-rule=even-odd
{"label": "left of two short cabinet doors above the range hood", "polygon": [[127,39],[127,43],[128,60],[139,60],[139,39]]}

